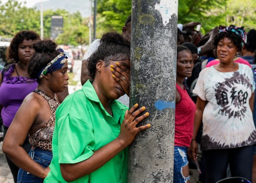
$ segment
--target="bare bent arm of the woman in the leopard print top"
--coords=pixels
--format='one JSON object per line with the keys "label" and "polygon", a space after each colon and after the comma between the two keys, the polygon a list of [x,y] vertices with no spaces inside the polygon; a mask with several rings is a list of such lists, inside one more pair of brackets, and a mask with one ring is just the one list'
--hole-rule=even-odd
{"label": "bare bent arm of the woman in the leopard print top", "polygon": [[38,117],[40,110],[40,104],[32,98],[31,94],[24,99],[4,138],[3,152],[21,169],[37,177],[45,178],[49,167],[45,169],[36,163],[22,148],[29,129]]}

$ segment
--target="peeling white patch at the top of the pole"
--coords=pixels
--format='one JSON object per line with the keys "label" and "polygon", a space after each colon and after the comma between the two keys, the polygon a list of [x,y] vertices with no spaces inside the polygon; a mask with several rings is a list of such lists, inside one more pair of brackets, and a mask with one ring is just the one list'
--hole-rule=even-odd
{"label": "peeling white patch at the top of the pole", "polygon": [[155,10],[158,10],[162,16],[163,24],[167,25],[173,14],[178,13],[178,0],[175,3],[171,3],[171,0],[160,0],[160,3],[156,3]]}

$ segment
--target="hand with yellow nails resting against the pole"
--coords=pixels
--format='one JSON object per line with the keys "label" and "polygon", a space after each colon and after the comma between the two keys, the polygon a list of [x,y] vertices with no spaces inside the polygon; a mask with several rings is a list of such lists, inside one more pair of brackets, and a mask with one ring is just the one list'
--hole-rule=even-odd
{"label": "hand with yellow nails resting against the pole", "polygon": [[135,104],[133,107],[131,107],[130,110],[125,111],[125,118],[122,122],[120,134],[118,136],[118,138],[125,144],[125,146],[128,146],[132,143],[132,141],[134,141],[134,138],[138,132],[141,132],[142,130],[148,129],[150,127],[150,124],[136,127],[140,121],[149,115],[147,112],[138,117],[138,115],[143,113],[143,111],[146,109],[145,107],[141,107],[137,110],[138,106],[138,104]]}

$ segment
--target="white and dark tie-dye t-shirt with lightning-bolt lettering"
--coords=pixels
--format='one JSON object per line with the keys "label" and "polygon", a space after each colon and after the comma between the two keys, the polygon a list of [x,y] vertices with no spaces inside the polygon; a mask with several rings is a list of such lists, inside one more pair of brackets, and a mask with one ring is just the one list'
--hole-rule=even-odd
{"label": "white and dark tie-dye t-shirt with lightning-bolt lettering", "polygon": [[256,144],[249,99],[255,89],[250,67],[239,64],[235,72],[205,68],[193,93],[208,101],[203,112],[201,148],[227,149]]}

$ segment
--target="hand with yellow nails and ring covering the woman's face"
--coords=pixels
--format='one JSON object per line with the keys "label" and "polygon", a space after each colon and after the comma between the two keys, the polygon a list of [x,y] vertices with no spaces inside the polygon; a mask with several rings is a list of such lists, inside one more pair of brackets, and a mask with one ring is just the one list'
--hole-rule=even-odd
{"label": "hand with yellow nails and ring covering the woman's face", "polygon": [[116,62],[110,65],[113,79],[120,84],[126,95],[130,94],[130,70],[126,65]]}

